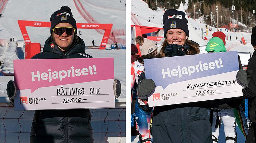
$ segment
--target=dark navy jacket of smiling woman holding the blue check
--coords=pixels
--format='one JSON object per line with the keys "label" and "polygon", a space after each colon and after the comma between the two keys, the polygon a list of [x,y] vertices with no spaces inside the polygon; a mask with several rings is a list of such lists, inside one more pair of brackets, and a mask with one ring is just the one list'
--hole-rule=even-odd
{"label": "dark navy jacket of smiling woman holding the blue check", "polygon": [[[183,54],[178,52],[181,50],[175,50],[178,49],[174,48],[173,53],[169,54]],[[138,83],[144,78],[145,72],[142,72]],[[212,106],[215,103],[211,101],[155,106],[151,129],[153,143],[212,143],[212,127],[207,111],[207,107]],[[139,108],[144,111],[152,110],[148,105],[139,105]]]}

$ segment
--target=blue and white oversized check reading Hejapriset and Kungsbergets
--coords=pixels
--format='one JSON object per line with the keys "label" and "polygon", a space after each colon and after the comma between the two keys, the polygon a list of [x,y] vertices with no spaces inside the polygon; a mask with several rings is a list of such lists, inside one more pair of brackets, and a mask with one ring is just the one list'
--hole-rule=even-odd
{"label": "blue and white oversized check reading Hejapriset and Kungsbergets", "polygon": [[243,96],[236,82],[237,51],[144,60],[156,88],[149,106]]}

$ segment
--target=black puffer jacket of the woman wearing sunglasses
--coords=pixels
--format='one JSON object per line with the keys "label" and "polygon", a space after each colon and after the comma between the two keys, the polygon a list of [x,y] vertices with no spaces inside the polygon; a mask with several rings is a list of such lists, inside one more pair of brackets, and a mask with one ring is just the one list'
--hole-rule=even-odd
{"label": "black puffer jacket of the woman wearing sunglasses", "polygon": [[[31,59],[92,58],[84,53],[85,45],[79,37],[65,54],[57,45],[51,48],[50,39],[46,40],[43,52]],[[36,110],[30,143],[93,143],[90,122],[89,109]]]}

